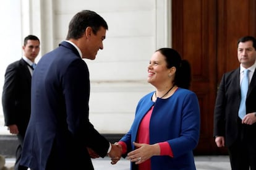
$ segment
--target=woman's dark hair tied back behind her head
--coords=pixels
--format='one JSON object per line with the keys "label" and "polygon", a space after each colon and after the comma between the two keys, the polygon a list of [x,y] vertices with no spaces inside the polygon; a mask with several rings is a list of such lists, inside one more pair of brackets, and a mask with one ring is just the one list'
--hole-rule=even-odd
{"label": "woman's dark hair tied back behind her head", "polygon": [[174,85],[177,87],[189,89],[191,82],[191,69],[187,60],[181,59],[179,53],[172,48],[160,48],[159,51],[165,57],[168,69],[176,67],[174,76]]}

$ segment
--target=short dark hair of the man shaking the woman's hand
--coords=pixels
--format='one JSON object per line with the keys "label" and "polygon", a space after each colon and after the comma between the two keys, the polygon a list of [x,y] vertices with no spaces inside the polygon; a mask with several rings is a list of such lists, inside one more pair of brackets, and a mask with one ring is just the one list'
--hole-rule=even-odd
{"label": "short dark hair of the man shaking the woman's hand", "polygon": [[74,15],[69,22],[69,32],[67,33],[66,40],[71,38],[77,40],[82,37],[85,29],[92,27],[93,33],[96,35],[100,27],[108,30],[108,24],[100,15],[94,11],[83,10]]}

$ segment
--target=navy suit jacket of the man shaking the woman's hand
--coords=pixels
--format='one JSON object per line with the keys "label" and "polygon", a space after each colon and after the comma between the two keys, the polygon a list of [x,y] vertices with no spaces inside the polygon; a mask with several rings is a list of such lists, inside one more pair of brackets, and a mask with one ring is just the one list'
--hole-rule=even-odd
{"label": "navy suit jacket of the man shaking the woman's hand", "polygon": [[93,169],[87,147],[106,156],[109,142],[89,121],[90,80],[77,49],[63,41],[41,57],[32,77],[32,114],[24,166],[41,170]]}

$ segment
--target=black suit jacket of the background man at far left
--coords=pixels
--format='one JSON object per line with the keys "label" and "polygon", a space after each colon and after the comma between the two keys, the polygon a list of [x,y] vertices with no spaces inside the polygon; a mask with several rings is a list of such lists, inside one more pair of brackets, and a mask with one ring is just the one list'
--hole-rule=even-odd
{"label": "black suit jacket of the background man at far left", "polygon": [[20,59],[6,69],[2,91],[5,125],[16,124],[24,137],[30,119],[31,74],[27,63]]}

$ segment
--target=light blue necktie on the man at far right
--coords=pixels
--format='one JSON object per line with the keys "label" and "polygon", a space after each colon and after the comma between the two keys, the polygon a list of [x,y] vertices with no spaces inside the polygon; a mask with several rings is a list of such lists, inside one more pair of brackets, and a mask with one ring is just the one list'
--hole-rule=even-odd
{"label": "light blue necktie on the man at far right", "polygon": [[248,78],[248,72],[249,70],[244,70],[244,78],[242,79],[241,83],[241,103],[238,111],[238,116],[243,119],[246,114],[246,108],[245,108],[245,100],[247,96],[247,91],[249,87],[249,78]]}

